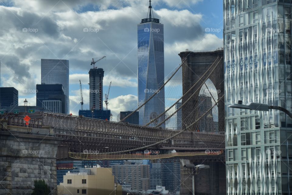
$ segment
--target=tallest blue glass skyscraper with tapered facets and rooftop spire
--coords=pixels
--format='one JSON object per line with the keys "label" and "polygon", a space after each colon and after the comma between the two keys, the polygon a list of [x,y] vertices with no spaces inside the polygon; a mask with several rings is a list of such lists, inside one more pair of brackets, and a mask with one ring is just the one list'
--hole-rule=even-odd
{"label": "tallest blue glass skyscraper with tapered facets and rooftop spire", "polygon": [[[153,16],[151,1],[149,16],[138,24],[138,104],[156,93],[164,84],[164,32],[163,24]],[[139,124],[145,125],[165,111],[164,88],[139,111]],[[165,115],[150,124],[156,126]],[[163,124],[161,127],[165,127]]]}

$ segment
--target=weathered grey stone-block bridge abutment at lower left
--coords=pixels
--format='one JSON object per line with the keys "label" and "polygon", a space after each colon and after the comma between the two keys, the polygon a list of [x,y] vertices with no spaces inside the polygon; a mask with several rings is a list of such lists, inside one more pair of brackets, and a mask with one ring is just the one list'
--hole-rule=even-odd
{"label": "weathered grey stone-block bridge abutment at lower left", "polygon": [[60,138],[4,129],[0,126],[0,195],[31,194],[36,179],[44,179],[56,194]]}

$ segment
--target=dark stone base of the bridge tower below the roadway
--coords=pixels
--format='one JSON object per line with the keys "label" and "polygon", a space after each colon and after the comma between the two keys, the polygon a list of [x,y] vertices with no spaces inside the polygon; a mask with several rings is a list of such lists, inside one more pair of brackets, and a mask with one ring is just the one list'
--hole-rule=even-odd
{"label": "dark stone base of the bridge tower below the roadway", "polygon": [[[196,195],[226,195],[226,167],[225,163],[217,162],[194,162],[195,165],[209,165],[210,169],[201,170],[195,175]],[[181,167],[181,195],[192,194],[193,177],[189,169]]]}

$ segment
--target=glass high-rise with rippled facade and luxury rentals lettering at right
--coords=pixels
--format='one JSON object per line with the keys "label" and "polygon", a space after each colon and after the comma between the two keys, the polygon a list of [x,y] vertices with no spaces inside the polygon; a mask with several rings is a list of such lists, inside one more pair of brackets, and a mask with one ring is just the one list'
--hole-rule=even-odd
{"label": "glass high-rise with rippled facade and luxury rentals lettering at right", "polygon": [[228,105],[258,102],[291,112],[290,0],[224,0],[227,194],[292,193],[292,122],[283,112]]}

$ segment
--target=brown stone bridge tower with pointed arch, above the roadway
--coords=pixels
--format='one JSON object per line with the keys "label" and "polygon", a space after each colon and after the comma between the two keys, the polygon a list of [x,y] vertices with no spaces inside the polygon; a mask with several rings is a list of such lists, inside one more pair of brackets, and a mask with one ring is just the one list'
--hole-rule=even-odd
{"label": "brown stone bridge tower with pointed arch, above the roadway", "polygon": [[[221,60],[223,58],[223,55],[224,55],[223,49],[206,51],[183,51],[179,53],[179,56],[182,59],[182,94],[183,94],[182,104],[186,102],[186,105],[182,107],[182,128],[192,124],[201,115],[201,113],[198,112],[198,110],[200,110],[198,109],[200,103],[203,99],[206,100],[208,98],[200,97],[200,90],[197,89],[198,87],[200,87],[200,85],[202,86],[205,85],[203,82],[204,80],[201,77],[206,73],[207,69],[209,69],[210,66],[214,66],[214,68],[211,68],[209,70],[210,72],[212,71],[212,74],[207,78],[208,82],[210,80],[210,82],[214,84],[213,90],[216,89],[217,98],[221,97],[224,94],[224,64],[223,64],[224,62],[223,60]],[[196,82],[198,82],[197,86],[187,93],[187,91]],[[189,98],[191,99],[187,101]],[[215,101],[217,101],[217,99],[215,99]],[[218,108],[217,129],[219,129],[219,133],[224,133],[225,129],[223,100],[218,103],[217,108]],[[201,129],[199,128],[202,127],[200,127],[200,124],[197,124],[192,127],[192,130],[201,131]],[[208,128],[209,130],[205,128],[203,131],[207,132],[213,131],[212,127]]]}

